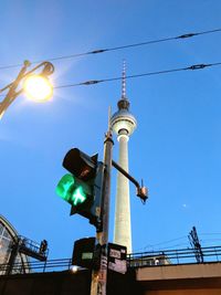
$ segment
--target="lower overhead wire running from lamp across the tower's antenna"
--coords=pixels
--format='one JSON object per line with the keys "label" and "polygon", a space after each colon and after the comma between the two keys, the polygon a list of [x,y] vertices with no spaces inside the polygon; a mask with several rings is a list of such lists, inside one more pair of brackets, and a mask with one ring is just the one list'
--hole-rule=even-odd
{"label": "lower overhead wire running from lamp across the tower's antenna", "polygon": [[[126,78],[128,80],[128,78],[144,77],[144,76],[169,74],[169,73],[181,72],[181,71],[202,70],[204,67],[211,67],[211,66],[218,66],[218,65],[221,65],[221,62],[210,63],[210,64],[193,64],[193,65],[187,66],[187,67],[170,69],[170,70],[164,70],[164,71],[157,71],[157,72],[148,72],[148,73],[143,73],[143,74],[127,75]],[[98,83],[107,83],[107,82],[114,82],[114,81],[119,81],[119,80],[122,80],[122,76],[110,77],[110,78],[103,78],[103,80],[88,80],[88,81],[80,82],[80,83],[75,83],[75,84],[67,84],[67,85],[56,86],[54,88],[67,88],[67,87],[75,87],[75,86],[90,86],[90,85],[95,85],[95,84],[98,84]]]}

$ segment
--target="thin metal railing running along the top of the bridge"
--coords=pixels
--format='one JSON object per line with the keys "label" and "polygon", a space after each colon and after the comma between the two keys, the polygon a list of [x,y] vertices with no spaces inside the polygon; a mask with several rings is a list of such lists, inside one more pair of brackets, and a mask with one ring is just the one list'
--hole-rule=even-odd
{"label": "thin metal railing running along the top of the bridge", "polygon": [[[221,262],[221,246],[202,247],[203,263]],[[196,250],[162,250],[133,253],[127,256],[128,267],[150,267],[156,265],[197,264]],[[0,264],[0,275],[6,275],[9,264]],[[81,267],[80,267],[81,268]],[[72,270],[71,259],[31,261],[14,263],[11,274],[62,272]]]}

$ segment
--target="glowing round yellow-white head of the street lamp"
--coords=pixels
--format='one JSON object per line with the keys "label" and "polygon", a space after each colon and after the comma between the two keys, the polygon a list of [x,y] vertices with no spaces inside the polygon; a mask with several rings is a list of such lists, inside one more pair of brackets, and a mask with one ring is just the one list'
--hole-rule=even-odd
{"label": "glowing round yellow-white head of the street lamp", "polygon": [[24,80],[23,89],[28,97],[36,102],[45,102],[53,94],[52,84],[42,75],[29,75]]}

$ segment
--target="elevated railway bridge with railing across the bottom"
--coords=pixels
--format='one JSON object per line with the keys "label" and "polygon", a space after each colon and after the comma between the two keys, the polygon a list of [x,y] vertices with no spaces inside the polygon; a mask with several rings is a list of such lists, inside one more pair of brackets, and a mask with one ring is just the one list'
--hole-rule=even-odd
{"label": "elevated railway bridge with railing across the bottom", "polygon": [[[201,250],[200,263],[192,249],[134,253],[126,274],[108,271],[107,295],[220,295],[221,246]],[[90,294],[91,271],[74,273],[71,259],[29,262],[28,267],[27,274],[1,275],[0,294]]]}

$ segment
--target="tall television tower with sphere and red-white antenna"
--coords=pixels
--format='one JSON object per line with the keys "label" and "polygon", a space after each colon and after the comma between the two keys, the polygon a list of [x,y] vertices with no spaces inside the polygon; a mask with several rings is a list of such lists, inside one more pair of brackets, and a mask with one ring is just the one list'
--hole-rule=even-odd
{"label": "tall television tower with sphere and red-white antenna", "polygon": [[[110,126],[119,141],[119,166],[128,172],[128,140],[137,127],[135,117],[129,112],[129,101],[126,97],[126,64],[123,66],[122,97],[117,103],[118,110],[110,118]],[[129,181],[120,172],[117,175],[117,191],[115,200],[114,243],[127,247],[131,253],[131,225]]]}

